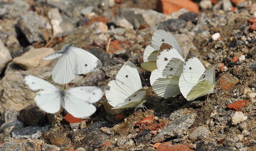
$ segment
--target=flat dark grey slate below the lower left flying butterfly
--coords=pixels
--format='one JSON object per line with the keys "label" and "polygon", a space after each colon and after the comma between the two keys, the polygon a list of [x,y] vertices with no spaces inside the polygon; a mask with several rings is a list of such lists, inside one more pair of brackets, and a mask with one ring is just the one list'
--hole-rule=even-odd
{"label": "flat dark grey slate below the lower left flying butterfly", "polygon": [[39,127],[39,126],[28,126],[22,129],[18,129],[12,132],[13,138],[39,138],[43,132],[47,131],[47,128],[45,127]]}

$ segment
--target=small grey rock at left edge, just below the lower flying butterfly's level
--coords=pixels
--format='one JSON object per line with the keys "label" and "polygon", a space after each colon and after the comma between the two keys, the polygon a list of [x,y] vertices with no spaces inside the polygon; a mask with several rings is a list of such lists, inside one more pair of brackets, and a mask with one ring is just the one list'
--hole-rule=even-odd
{"label": "small grey rock at left edge, just below the lower flying butterfly's level", "polygon": [[6,133],[12,133],[14,130],[18,130],[23,128],[23,122],[19,120],[9,120],[1,125],[0,127],[0,133],[6,132]]}

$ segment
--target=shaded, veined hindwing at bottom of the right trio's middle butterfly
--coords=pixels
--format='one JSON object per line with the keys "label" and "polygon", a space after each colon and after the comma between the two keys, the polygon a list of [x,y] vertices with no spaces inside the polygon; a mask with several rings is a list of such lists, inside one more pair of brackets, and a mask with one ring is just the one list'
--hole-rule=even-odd
{"label": "shaded, veined hindwing at bottom of the right trio's middle butterfly", "polygon": [[169,76],[158,78],[152,85],[153,90],[162,97],[172,97],[180,94],[179,77]]}

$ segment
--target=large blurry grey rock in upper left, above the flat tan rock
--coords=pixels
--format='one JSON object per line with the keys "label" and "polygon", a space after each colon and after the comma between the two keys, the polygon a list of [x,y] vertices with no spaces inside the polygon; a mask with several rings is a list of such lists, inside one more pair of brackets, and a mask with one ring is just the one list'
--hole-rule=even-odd
{"label": "large blurry grey rock in upper left, above the flat tan rock", "polygon": [[44,24],[37,14],[30,11],[24,14],[17,23],[17,27],[26,36],[30,43],[44,41],[44,35],[42,29],[44,29]]}

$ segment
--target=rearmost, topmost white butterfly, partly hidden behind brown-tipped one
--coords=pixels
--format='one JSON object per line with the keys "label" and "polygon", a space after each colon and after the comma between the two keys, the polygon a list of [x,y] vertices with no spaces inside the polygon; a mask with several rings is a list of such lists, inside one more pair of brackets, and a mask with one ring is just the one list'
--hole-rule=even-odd
{"label": "rearmost, topmost white butterfly, partly hidden behind brown-tipped one", "polygon": [[142,68],[150,72],[157,69],[156,58],[162,43],[170,44],[183,57],[181,47],[171,31],[164,25],[158,24],[152,36],[151,44],[145,48],[143,63],[141,64]]}

